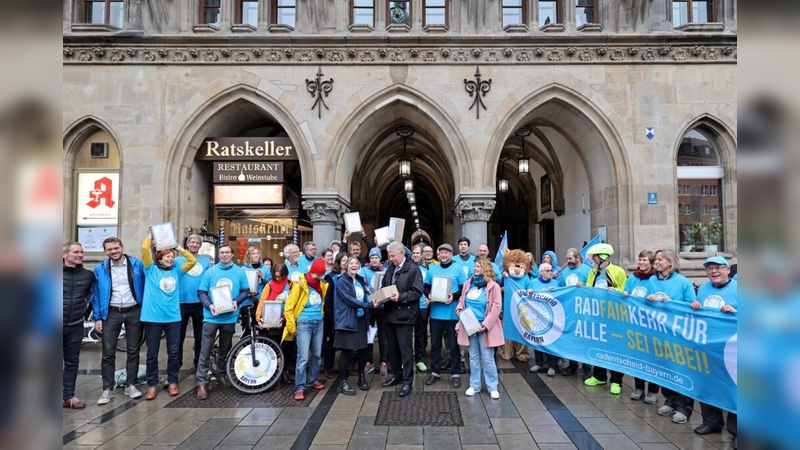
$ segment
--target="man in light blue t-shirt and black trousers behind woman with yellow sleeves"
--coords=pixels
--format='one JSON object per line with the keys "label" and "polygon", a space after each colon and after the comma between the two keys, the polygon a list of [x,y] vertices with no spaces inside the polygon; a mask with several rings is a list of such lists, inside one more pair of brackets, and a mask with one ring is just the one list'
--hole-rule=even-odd
{"label": "man in light blue t-shirt and black trousers behind woman with yellow sleeves", "polygon": [[[203,238],[199,234],[193,234],[186,239],[186,250],[194,255],[197,259],[197,264],[192,269],[186,272],[186,276],[181,279],[179,289],[181,291],[181,339],[178,345],[178,362],[183,366],[183,343],[186,341],[186,329],[189,327],[189,321],[192,321],[192,330],[194,330],[194,359],[192,359],[192,367],[197,369],[197,361],[200,359],[200,344],[202,339],[200,335],[203,333],[203,304],[200,303],[200,298],[197,296],[197,288],[200,287],[200,280],[203,279],[203,274],[208,270],[211,265],[211,258],[208,255],[199,255],[200,246],[203,244]],[[175,258],[175,265],[181,266],[186,263],[187,259],[183,256]]]}

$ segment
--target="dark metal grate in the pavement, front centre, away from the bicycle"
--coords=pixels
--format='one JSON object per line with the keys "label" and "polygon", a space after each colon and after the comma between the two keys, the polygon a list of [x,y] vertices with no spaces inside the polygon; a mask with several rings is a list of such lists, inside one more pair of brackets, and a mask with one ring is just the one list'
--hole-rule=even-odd
{"label": "dark metal grate in the pavement, front centre, away from the bicycle", "polygon": [[384,426],[463,426],[458,394],[455,392],[412,392],[400,398],[384,392],[378,405],[375,425]]}

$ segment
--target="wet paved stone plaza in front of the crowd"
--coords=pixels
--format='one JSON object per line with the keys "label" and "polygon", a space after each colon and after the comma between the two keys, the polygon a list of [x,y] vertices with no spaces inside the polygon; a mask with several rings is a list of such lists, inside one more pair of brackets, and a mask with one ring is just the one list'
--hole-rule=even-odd
{"label": "wet paved stone plaza in front of the crowd", "polygon": [[[187,338],[184,368],[191,367],[193,341]],[[376,348],[377,351],[377,348]],[[166,352],[161,351],[162,369]],[[144,351],[141,363],[145,361]],[[117,367],[124,357],[117,356]],[[527,363],[498,361],[499,400],[485,391],[467,397],[468,374],[462,378],[457,403],[463,426],[376,426],[384,392],[382,377],[370,374],[370,390],[354,397],[336,393],[329,380],[309,406],[263,408],[168,407],[182,396],[193,396],[194,375],[181,372],[181,397],[159,391],[158,398],[131,400],[117,389],[111,403],[97,406],[101,394],[100,345],[84,344],[77,396],[87,403],[82,411],[64,410],[65,449],[728,449],[727,432],[698,436],[699,405],[688,423],[677,425],[656,414],[656,407],[631,401],[632,377],[626,376],[622,395],[615,398],[605,386],[585,388],[580,373],[573,377],[531,374]],[[164,374],[162,374],[165,377]],[[355,380],[355,377],[351,377]],[[449,376],[425,386],[424,374],[414,381],[414,394],[453,390]],[[139,386],[142,391],[146,387]],[[210,391],[211,402],[219,389]],[[233,389],[233,388],[228,388]],[[277,389],[291,389],[278,385]],[[289,395],[287,393],[287,395]],[[663,398],[660,399],[663,403]]]}

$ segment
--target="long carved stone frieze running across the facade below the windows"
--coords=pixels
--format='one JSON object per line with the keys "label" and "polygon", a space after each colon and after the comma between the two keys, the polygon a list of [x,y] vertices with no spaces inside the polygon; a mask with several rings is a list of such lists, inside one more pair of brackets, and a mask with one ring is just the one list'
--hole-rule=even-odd
{"label": "long carved stone frieze running across the facade below the windows", "polygon": [[[673,44],[673,43],[671,43]],[[598,57],[590,57],[596,54]],[[431,48],[393,45],[361,46],[332,45],[327,48],[297,46],[294,48],[252,46],[246,50],[221,44],[198,49],[191,44],[141,45],[69,42],[63,47],[64,64],[217,64],[266,65],[291,61],[293,64],[649,64],[671,60],[680,63],[736,62],[736,44],[720,40],[714,45],[681,42],[673,45],[643,43],[628,46],[583,45],[519,45],[486,46],[483,48]]]}

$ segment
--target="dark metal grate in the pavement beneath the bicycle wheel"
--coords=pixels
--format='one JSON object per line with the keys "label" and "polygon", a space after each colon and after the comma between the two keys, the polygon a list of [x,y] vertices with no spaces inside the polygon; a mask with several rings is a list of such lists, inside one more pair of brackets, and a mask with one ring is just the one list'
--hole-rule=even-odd
{"label": "dark metal grate in the pavement beneath the bicycle wheel", "polygon": [[[208,398],[198,400],[195,389],[192,389],[170,402],[167,408],[284,408],[291,406],[308,406],[317,395],[316,389],[306,389],[306,399],[294,399],[294,386],[278,384],[275,388],[261,394],[242,394],[236,389],[224,388],[216,383],[211,384]],[[335,389],[335,388],[333,388]]]}

